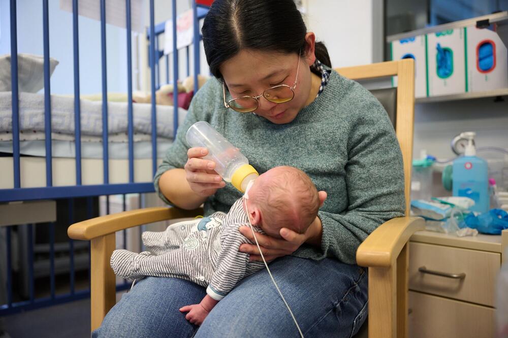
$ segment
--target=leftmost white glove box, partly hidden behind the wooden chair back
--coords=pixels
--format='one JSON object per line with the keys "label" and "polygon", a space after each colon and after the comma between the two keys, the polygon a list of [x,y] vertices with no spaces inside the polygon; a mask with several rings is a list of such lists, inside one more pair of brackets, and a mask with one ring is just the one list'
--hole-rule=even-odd
{"label": "leftmost white glove box, partly hidden behind the wooden chair back", "polygon": [[[425,35],[405,38],[390,43],[392,60],[405,58],[415,59],[415,97],[427,96]],[[393,78],[393,86],[397,86],[397,78]]]}

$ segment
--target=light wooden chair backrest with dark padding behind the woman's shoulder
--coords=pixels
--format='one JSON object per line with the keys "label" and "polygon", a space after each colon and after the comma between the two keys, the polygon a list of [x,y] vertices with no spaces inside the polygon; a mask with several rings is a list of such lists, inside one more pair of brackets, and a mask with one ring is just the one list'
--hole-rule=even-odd
{"label": "light wooden chair backrest with dark padding behind the woman's shoulder", "polygon": [[[335,69],[340,75],[352,80],[367,80],[383,77],[398,77],[397,88],[376,89],[371,92],[388,112],[395,126],[402,158],[404,161],[404,195],[406,215],[409,215],[411,162],[413,148],[413,130],[415,124],[415,64],[413,59],[387,61],[367,65]],[[393,109],[393,102],[396,102]]]}

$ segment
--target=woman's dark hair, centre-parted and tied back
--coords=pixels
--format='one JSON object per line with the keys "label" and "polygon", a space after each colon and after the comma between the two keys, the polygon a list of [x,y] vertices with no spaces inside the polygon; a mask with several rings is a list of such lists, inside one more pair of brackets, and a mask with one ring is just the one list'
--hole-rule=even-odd
{"label": "woman's dark hair, centre-parted and tied back", "polygon": [[[220,65],[244,48],[304,54],[307,27],[294,0],[215,0],[202,33],[210,72],[220,79]],[[315,56],[331,66],[322,42]]]}

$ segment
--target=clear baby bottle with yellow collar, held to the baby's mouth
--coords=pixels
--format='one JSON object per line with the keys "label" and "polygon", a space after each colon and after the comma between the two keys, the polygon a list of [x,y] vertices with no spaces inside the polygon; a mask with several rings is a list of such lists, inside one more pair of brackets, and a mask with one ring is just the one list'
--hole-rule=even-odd
{"label": "clear baby bottle with yellow collar, held to the baby's mouth", "polygon": [[187,130],[185,139],[190,147],[207,148],[208,155],[203,158],[214,161],[215,172],[241,192],[245,192],[247,184],[259,176],[238,148],[229,143],[208,122],[194,123]]}

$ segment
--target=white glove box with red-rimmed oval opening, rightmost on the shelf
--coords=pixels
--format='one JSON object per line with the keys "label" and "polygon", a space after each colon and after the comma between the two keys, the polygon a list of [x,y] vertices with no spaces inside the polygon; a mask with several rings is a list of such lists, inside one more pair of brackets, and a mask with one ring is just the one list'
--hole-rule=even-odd
{"label": "white glove box with red-rimmed oval opening, rightmost on the shelf", "polygon": [[469,91],[508,88],[508,52],[495,31],[466,27]]}

